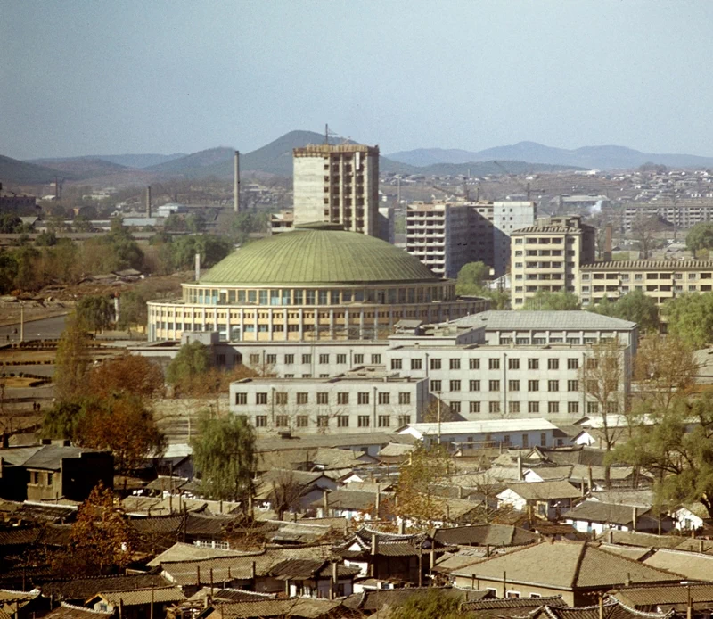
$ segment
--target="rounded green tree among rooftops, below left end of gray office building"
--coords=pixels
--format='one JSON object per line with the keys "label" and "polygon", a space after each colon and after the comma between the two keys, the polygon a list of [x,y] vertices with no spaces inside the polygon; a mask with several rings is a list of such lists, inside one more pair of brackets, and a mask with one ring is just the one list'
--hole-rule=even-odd
{"label": "rounded green tree among rooftops, below left end of gray office building", "polygon": [[252,496],[255,474],[255,431],[243,415],[212,418],[201,414],[198,435],[191,441],[193,463],[201,487],[217,500],[240,500],[243,509]]}

